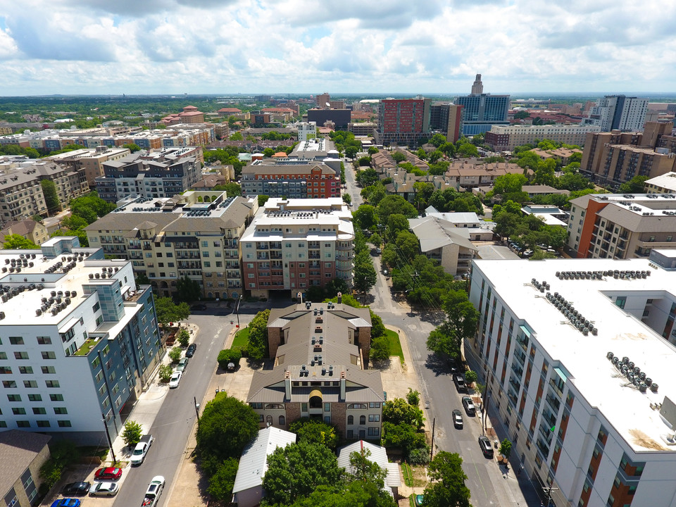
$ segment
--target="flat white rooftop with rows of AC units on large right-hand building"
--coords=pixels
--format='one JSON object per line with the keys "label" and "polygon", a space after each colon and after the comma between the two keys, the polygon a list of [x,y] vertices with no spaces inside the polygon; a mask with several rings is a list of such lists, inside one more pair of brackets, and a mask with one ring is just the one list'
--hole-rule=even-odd
{"label": "flat white rooftop with rows of AC units on large right-hand building", "polygon": [[[571,382],[584,399],[603,413],[615,430],[635,451],[672,451],[665,437],[673,430],[651,403],[662,403],[665,396],[676,400],[676,348],[641,323],[639,318],[616,306],[608,294],[676,301],[676,272],[655,268],[647,259],[613,261],[609,259],[547,259],[544,261],[474,261],[475,280],[483,273],[512,313],[524,319],[535,339],[554,361],[568,370]],[[601,280],[559,280],[556,272],[606,270],[645,270],[646,278],[622,280],[601,276]],[[479,273],[480,272],[480,273]],[[584,336],[548,299],[546,292],[532,284],[532,278],[550,284],[570,301],[584,318],[592,321],[598,335]],[[472,287],[472,290],[476,287]],[[641,306],[642,311],[642,306]],[[645,393],[629,384],[606,358],[627,356],[653,382],[658,392]]]}

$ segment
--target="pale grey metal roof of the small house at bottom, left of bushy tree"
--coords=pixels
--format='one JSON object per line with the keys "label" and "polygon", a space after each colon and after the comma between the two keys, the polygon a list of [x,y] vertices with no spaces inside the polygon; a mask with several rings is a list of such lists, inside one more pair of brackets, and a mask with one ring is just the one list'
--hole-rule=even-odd
{"label": "pale grey metal roof of the small house at bottom, left of bushy tree", "polygon": [[274,426],[258,432],[256,439],[251,442],[239,458],[239,468],[234,479],[232,492],[244,491],[263,484],[263,476],[268,470],[268,456],[275,452],[277,447],[286,447],[296,443],[296,434],[280,430]]}

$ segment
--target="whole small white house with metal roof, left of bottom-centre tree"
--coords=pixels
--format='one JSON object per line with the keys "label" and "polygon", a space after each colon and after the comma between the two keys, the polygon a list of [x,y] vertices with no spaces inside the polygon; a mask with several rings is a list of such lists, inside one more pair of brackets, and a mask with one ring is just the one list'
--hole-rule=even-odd
{"label": "whole small white house with metal roof, left of bottom-centre tree", "polygon": [[268,471],[268,456],[277,447],[296,443],[296,434],[274,426],[258,432],[256,439],[246,446],[239,458],[237,477],[232,488],[232,503],[238,507],[253,507],[263,498],[263,476]]}

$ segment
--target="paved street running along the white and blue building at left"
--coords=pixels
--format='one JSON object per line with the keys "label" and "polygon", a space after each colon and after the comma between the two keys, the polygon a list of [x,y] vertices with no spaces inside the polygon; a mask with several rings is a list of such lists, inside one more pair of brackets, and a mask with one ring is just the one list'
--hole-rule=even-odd
{"label": "paved street running along the white and blue building at left", "polygon": [[[195,339],[196,353],[189,360],[179,387],[168,392],[155,418],[151,427],[155,442],[144,463],[125,470],[127,477],[115,499],[115,507],[140,506],[144,492],[155,475],[163,475],[167,481],[158,507],[163,506],[168,499],[185,443],[195,422],[194,399],[199,401],[204,398],[218,352],[223,348],[227,333],[234,327],[227,316],[230,312],[227,308],[213,308],[190,316],[189,322],[199,326]],[[249,323],[255,314],[253,310],[240,311],[242,325]],[[237,323],[234,315],[232,318]]]}

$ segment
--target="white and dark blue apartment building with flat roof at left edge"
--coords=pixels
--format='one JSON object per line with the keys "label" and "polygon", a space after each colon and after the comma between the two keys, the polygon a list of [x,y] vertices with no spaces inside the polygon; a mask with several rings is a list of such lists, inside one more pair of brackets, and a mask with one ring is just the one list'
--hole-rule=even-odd
{"label": "white and dark blue apartment building with flat roof at left edge", "polygon": [[0,429],[114,439],[163,353],[150,287],[77,237],[0,257]]}

